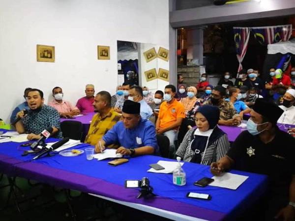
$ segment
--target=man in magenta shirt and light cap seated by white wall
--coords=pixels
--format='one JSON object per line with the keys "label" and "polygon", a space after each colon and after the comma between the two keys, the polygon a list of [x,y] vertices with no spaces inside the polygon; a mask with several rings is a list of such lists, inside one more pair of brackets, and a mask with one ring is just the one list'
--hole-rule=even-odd
{"label": "man in magenta shirt and light cap seated by white wall", "polygon": [[86,96],[83,98],[80,98],[77,101],[76,107],[82,112],[82,113],[89,113],[94,112],[93,108],[93,102],[94,102],[94,85],[93,84],[87,84],[85,87],[85,93]]}

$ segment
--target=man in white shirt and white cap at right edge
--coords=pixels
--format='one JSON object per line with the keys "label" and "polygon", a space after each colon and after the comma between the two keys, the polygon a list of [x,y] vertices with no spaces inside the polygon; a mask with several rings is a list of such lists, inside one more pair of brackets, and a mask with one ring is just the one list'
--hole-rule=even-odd
{"label": "man in white shirt and white cap at right edge", "polygon": [[281,124],[295,124],[295,89],[289,89],[283,96],[283,105],[279,107],[284,111],[278,120]]}

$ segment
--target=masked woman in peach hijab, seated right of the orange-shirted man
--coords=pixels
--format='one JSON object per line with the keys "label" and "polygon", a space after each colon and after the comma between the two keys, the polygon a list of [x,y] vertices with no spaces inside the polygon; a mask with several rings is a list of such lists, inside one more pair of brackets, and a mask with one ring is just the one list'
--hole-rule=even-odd
{"label": "masked woman in peach hijab, seated right of the orange-shirted man", "polygon": [[196,87],[188,87],[187,88],[187,97],[181,99],[181,103],[184,107],[185,118],[182,120],[180,128],[178,130],[177,141],[180,144],[184,135],[188,131],[188,126],[196,126],[195,125],[195,113],[198,108],[201,106],[201,103],[198,101],[197,97],[197,88]]}

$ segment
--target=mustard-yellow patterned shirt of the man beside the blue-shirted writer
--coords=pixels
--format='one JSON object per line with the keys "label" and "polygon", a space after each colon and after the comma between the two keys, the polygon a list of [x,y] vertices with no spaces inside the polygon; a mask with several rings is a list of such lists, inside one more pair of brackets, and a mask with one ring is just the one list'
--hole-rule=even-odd
{"label": "mustard-yellow patterned shirt of the man beside the blue-shirted writer", "polygon": [[112,129],[120,118],[121,115],[113,109],[111,109],[111,111],[109,111],[104,118],[101,118],[100,113],[95,114],[91,120],[85,142],[91,145],[97,144],[98,140],[100,140],[110,129]]}

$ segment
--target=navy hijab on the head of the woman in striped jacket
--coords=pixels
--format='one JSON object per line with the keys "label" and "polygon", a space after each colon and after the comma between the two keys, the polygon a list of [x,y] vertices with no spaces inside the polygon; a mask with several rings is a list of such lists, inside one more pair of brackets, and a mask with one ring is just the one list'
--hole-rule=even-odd
{"label": "navy hijab on the head of the woman in striped jacket", "polygon": [[216,106],[203,105],[198,108],[197,112],[202,113],[206,117],[209,123],[209,129],[213,129],[217,125],[220,111],[219,108],[217,108]]}

